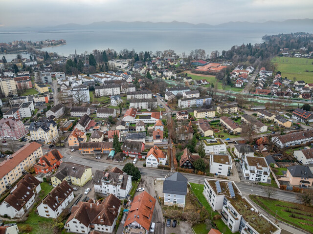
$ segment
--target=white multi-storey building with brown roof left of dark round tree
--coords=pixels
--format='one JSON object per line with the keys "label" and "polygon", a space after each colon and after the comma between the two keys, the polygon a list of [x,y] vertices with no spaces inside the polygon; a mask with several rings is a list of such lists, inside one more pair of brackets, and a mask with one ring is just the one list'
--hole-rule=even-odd
{"label": "white multi-storey building with brown roof left of dark round tree", "polygon": [[126,199],[132,188],[132,176],[117,167],[108,171],[96,170],[92,184],[95,192],[106,196],[113,194],[120,199]]}

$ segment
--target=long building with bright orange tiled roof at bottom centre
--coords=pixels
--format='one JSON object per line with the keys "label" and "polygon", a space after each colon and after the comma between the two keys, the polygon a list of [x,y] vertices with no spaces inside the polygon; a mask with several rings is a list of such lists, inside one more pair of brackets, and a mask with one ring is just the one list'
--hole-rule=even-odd
{"label": "long building with bright orange tiled roof at bottom centre", "polygon": [[149,232],[155,206],[156,199],[148,192],[143,191],[136,195],[125,220],[124,228],[128,228],[132,233],[132,230],[137,231],[135,227],[140,225],[144,233]]}

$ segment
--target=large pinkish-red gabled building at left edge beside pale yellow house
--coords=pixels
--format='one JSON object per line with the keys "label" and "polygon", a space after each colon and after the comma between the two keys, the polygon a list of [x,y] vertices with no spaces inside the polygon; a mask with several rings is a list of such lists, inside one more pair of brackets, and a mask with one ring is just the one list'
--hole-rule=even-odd
{"label": "large pinkish-red gabled building at left edge beside pale yellow house", "polygon": [[0,137],[19,140],[27,133],[21,120],[12,118],[0,120]]}

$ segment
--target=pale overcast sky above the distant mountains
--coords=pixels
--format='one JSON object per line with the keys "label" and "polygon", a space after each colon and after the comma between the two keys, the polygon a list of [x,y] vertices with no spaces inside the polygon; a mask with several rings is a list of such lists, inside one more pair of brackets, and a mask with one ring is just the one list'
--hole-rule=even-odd
{"label": "pale overcast sky above the distant mountains", "polygon": [[54,26],[95,21],[312,19],[313,0],[1,0],[0,26]]}

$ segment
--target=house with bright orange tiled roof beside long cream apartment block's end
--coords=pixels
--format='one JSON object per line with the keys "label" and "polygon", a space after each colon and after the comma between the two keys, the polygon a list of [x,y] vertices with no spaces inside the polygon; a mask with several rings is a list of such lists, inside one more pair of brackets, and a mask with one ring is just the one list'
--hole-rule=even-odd
{"label": "house with bright orange tiled roof beside long cream apartment block's end", "polygon": [[52,149],[47,152],[44,156],[40,157],[38,163],[34,165],[36,174],[53,173],[63,162],[62,158],[62,154],[57,149]]}

